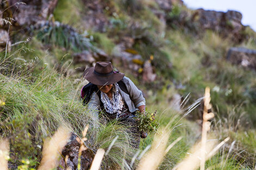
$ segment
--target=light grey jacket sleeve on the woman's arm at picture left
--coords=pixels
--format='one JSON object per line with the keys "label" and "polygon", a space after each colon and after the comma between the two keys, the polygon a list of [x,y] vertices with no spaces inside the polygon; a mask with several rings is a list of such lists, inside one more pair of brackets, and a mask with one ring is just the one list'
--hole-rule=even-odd
{"label": "light grey jacket sleeve on the woman's arm at picture left", "polygon": [[95,118],[99,118],[100,99],[96,92],[92,93],[90,101],[88,102],[88,109]]}

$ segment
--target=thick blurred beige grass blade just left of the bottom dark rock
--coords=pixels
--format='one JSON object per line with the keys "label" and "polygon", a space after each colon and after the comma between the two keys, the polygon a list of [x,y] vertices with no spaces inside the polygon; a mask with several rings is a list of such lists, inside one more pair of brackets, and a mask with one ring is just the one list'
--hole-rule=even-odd
{"label": "thick blurred beige grass blade just left of the bottom dark rock", "polygon": [[69,138],[70,132],[64,127],[60,127],[50,139],[45,141],[38,170],[48,170],[58,166],[60,153]]}

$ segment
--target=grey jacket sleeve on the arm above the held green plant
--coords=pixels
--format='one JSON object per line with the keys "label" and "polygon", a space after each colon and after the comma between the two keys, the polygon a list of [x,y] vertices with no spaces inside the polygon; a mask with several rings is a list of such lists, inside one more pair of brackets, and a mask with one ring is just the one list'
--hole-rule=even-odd
{"label": "grey jacket sleeve on the arm above the held green plant", "polygon": [[145,105],[145,98],[142,95],[142,91],[137,88],[137,86],[130,80],[129,78],[125,77],[127,80],[128,85],[127,91],[130,93],[130,98],[135,105],[136,108],[141,105]]}

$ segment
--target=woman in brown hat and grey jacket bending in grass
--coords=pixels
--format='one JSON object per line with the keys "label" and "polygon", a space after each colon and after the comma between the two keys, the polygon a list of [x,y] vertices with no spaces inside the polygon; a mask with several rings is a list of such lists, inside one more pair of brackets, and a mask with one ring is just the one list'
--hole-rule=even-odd
{"label": "woman in brown hat and grey jacket bending in grass", "polygon": [[[137,110],[145,111],[145,98],[142,91],[138,90],[135,84],[124,76],[124,73],[113,71],[112,64],[108,61],[96,62],[95,67],[84,71],[84,78],[92,83],[90,90],[93,89],[89,93],[88,108],[96,118],[99,118],[99,111],[103,111],[109,120],[117,119],[129,125],[129,132],[133,136],[131,144],[138,148],[139,136],[147,137],[147,133],[140,135],[134,118]],[[85,98],[84,96],[81,95],[82,98]]]}

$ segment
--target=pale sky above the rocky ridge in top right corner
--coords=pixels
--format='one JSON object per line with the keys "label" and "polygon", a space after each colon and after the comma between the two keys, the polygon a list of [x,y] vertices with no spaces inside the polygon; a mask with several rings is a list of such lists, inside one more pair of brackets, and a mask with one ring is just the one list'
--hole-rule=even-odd
{"label": "pale sky above the rocky ridge in top right corner", "polygon": [[188,8],[242,13],[242,24],[256,31],[256,0],[183,0]]}

